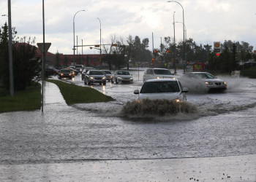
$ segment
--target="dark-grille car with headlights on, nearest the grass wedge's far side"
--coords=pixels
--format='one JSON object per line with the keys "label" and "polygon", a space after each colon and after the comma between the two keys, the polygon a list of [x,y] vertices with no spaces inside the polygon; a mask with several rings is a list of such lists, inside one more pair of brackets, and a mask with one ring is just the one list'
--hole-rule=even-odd
{"label": "dark-grille car with headlights on, nearest the grass wedge's far side", "polygon": [[99,83],[106,85],[106,76],[99,70],[89,70],[86,72],[84,84]]}

